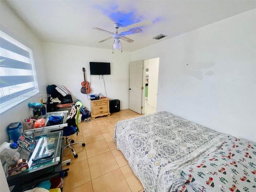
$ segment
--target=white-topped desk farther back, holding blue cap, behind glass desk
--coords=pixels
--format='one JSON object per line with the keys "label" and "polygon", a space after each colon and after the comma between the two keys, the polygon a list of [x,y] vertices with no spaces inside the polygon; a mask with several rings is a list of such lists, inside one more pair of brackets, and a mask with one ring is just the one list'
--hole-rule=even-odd
{"label": "white-topped desk farther back, holding blue cap, behind glass desk", "polygon": [[68,124],[66,123],[67,114],[68,114],[68,110],[46,113],[45,115],[39,117],[39,118],[44,118],[45,119],[45,125],[47,125],[50,116],[63,116],[63,119],[64,119],[63,123],[52,125],[52,126],[44,126],[44,127],[41,127],[41,128],[34,128],[34,129],[30,129],[30,130],[25,130],[24,132],[26,133],[28,131],[32,131],[34,136],[39,136],[39,135],[42,135],[42,134],[50,133],[52,130],[58,130],[58,129],[61,129],[63,127],[66,127],[66,126],[68,126]]}

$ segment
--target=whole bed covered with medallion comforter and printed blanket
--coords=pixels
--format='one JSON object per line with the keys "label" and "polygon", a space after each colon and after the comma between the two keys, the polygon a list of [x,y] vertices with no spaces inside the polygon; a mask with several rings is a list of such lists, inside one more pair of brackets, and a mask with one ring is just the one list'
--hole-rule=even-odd
{"label": "whole bed covered with medallion comforter and printed blanket", "polygon": [[255,144],[170,112],[119,121],[114,142],[145,192],[256,192]]}

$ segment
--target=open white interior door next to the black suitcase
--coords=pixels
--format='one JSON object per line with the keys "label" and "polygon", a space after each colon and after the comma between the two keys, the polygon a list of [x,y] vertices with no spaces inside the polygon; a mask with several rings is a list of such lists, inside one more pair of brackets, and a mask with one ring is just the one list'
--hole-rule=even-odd
{"label": "open white interior door next to the black suitcase", "polygon": [[142,114],[143,60],[130,62],[130,110]]}

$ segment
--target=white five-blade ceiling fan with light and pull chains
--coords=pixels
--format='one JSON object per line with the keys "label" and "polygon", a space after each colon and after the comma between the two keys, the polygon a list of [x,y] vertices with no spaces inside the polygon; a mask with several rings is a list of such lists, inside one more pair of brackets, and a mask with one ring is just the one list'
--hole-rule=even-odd
{"label": "white five-blade ceiling fan with light and pull chains", "polygon": [[[102,32],[105,32],[105,33],[108,33],[108,34],[111,34],[112,37],[108,37],[106,39],[103,39],[103,40],[99,41],[99,43],[102,43],[102,42],[104,42],[106,40],[114,38],[113,49],[115,49],[115,50],[122,49],[122,44],[120,42],[120,39],[122,39],[122,40],[124,40],[124,41],[126,41],[128,43],[134,42],[134,40],[125,37],[126,35],[135,34],[135,33],[141,33],[142,32],[141,29],[136,28],[136,29],[124,31],[124,32],[121,32],[120,34],[118,34],[118,28],[120,27],[120,24],[119,23],[114,23],[114,27],[116,28],[116,33],[112,33],[112,32],[109,32],[109,31],[106,31],[106,30],[103,30],[103,29],[100,29],[100,28],[96,28],[96,27],[94,27],[93,29],[96,29],[96,30],[99,30],[99,31],[102,31]],[[113,53],[114,53],[114,51],[113,51]]]}

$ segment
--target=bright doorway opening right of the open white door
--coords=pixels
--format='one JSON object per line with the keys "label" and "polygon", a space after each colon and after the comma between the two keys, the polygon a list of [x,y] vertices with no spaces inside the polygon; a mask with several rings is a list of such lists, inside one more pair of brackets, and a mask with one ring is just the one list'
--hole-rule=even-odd
{"label": "bright doorway opening right of the open white door", "polygon": [[[145,97],[142,98],[142,114],[151,114],[156,112],[157,90],[158,90],[158,69],[159,57],[144,60],[143,80]],[[143,94],[144,95],[144,94]],[[143,112],[144,111],[144,112]]]}

